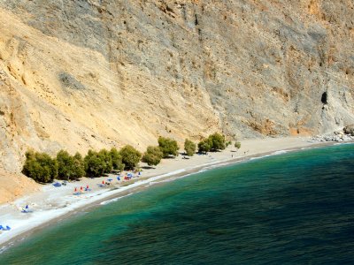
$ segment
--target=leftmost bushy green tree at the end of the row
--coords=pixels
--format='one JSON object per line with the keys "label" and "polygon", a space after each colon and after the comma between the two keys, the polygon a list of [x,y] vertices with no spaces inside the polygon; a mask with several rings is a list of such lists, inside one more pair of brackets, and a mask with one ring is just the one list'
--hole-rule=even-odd
{"label": "leftmost bushy green tree at the end of the row", "polygon": [[22,173],[36,182],[52,182],[58,176],[58,163],[50,155],[29,151]]}

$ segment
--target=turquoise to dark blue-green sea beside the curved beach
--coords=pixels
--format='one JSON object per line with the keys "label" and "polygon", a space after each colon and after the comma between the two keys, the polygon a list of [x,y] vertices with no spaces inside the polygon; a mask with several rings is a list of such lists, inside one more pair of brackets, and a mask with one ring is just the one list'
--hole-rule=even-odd
{"label": "turquoise to dark blue-green sea beside the curved beach", "polygon": [[354,264],[354,145],[152,186],[53,223],[0,264]]}

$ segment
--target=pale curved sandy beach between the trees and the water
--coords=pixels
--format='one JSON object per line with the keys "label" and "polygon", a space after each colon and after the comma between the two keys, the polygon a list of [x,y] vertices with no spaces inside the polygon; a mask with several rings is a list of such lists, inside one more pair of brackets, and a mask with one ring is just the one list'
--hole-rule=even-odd
{"label": "pale curved sandy beach between the trees and the water", "polygon": [[[119,200],[122,196],[136,193],[165,179],[181,178],[200,170],[247,161],[257,156],[277,155],[283,151],[289,152],[301,148],[315,148],[333,144],[336,142],[319,143],[310,138],[242,140],[242,148],[238,151],[235,151],[234,147],[228,147],[222,152],[195,155],[190,159],[182,159],[182,156],[179,155],[174,159],[163,160],[155,169],[143,170],[142,176],[135,178],[135,182],[130,185],[124,181],[117,181],[116,176],[110,176],[113,178],[112,186],[104,188],[97,185],[103,180],[106,181],[108,177],[82,178],[81,181],[61,187],[46,185],[38,193],[0,206],[0,224],[12,227],[11,231],[0,232],[0,253],[8,246],[12,246],[14,242],[50,225],[50,223],[58,222],[58,220],[72,216],[84,209],[106,204],[112,200]],[[92,191],[79,196],[73,195],[74,187],[80,190],[81,186],[88,185]],[[20,212],[21,208],[26,205],[33,210],[32,213]]]}

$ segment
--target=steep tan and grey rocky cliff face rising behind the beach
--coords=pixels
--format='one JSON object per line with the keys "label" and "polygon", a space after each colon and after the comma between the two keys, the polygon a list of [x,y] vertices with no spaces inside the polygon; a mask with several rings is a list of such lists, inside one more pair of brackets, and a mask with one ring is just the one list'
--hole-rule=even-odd
{"label": "steep tan and grey rocky cliff face rising behind the beach", "polygon": [[353,124],[353,17],[350,0],[0,1],[0,167]]}

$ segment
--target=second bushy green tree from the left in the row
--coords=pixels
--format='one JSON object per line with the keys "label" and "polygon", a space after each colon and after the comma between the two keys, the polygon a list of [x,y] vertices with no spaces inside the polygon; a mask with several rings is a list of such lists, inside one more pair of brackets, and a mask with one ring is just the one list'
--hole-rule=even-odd
{"label": "second bushy green tree from the left in the row", "polygon": [[59,179],[78,179],[85,174],[82,156],[79,153],[72,156],[61,150],[57,154],[57,161]]}

